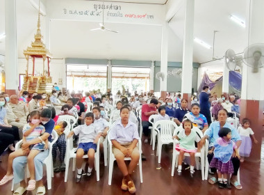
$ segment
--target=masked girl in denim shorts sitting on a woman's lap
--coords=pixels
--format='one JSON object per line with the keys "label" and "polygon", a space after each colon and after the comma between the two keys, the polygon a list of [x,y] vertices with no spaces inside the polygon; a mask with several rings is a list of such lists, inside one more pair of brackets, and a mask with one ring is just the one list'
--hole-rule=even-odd
{"label": "masked girl in denim shorts sitting on a woman's lap", "polygon": [[[31,111],[28,115],[29,123],[24,125],[23,128],[23,143],[26,141],[30,141],[37,137],[40,137],[41,134],[45,132],[45,128],[40,125],[40,111]],[[41,139],[41,138],[40,138]],[[43,141],[42,141],[43,142]],[[48,148],[48,139],[44,141],[44,143],[36,143],[31,145],[28,150],[22,150],[22,148],[16,150],[13,153],[10,153],[8,157],[8,171],[6,176],[0,181],[0,185],[6,184],[6,182],[13,180],[13,159],[19,156],[28,156],[28,170],[30,173],[31,180],[28,181],[28,187],[26,190],[35,189],[35,166],[34,166],[34,158],[38,153],[42,150]]]}

